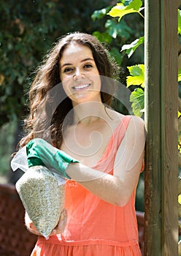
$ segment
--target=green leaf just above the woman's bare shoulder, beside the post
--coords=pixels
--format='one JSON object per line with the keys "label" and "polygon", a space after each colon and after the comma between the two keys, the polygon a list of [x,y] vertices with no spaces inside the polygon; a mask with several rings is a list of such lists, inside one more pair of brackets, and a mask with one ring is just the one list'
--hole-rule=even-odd
{"label": "green leaf just above the woman's bare shoulder, beside the post", "polygon": [[133,102],[131,108],[134,115],[141,117],[145,106],[145,92],[141,88],[135,89],[131,92],[130,101]]}

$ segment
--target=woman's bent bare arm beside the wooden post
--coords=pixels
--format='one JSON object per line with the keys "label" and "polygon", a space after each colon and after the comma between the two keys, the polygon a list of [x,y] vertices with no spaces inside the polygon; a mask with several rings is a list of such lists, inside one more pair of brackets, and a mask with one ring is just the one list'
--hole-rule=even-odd
{"label": "woman's bent bare arm beside the wooden post", "polygon": [[81,163],[69,165],[66,173],[102,200],[117,206],[124,206],[138,182],[144,148],[144,122],[141,118],[133,116],[118,148],[113,176]]}

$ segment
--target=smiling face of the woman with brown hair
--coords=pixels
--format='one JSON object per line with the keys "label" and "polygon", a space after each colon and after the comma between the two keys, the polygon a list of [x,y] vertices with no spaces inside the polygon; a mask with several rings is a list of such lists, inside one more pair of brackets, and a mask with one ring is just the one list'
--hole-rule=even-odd
{"label": "smiling face of the woman with brown hair", "polygon": [[63,89],[73,105],[88,101],[101,102],[101,78],[90,48],[70,43],[63,50],[59,64]]}

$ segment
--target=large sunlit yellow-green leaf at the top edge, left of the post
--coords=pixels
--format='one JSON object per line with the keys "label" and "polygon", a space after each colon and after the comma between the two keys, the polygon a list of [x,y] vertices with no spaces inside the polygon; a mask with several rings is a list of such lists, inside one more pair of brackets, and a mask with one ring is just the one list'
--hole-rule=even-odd
{"label": "large sunlit yellow-green leaf at the top edge, left of the post", "polygon": [[138,12],[140,14],[140,7],[142,7],[142,1],[141,0],[133,0],[131,1],[128,6],[125,6],[122,3],[118,3],[115,7],[112,7],[112,9],[107,13],[107,15],[110,15],[111,17],[119,17],[119,21],[121,18],[123,18],[124,15]]}

